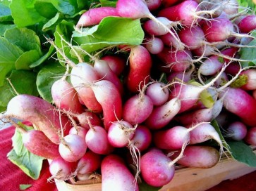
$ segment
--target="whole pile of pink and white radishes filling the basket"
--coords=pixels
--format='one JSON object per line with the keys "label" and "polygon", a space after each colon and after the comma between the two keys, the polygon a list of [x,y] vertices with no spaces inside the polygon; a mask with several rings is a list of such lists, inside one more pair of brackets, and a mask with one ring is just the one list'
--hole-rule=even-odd
{"label": "whole pile of pink and white radishes filling the basket", "polygon": [[[89,180],[99,173],[102,190],[138,190],[140,180],[161,187],[173,178],[174,164],[219,162],[224,145],[213,119],[223,136],[256,145],[256,69],[242,68],[246,60],[238,56],[255,38],[255,15],[228,0],[118,0],[116,8],[86,11],[76,28],[108,16],[141,18],[145,41],[118,46],[116,55],[90,55],[90,63],[63,55],[71,72],[51,87],[54,105],[17,95],[4,114],[33,124],[35,130],[21,130],[23,143],[51,159],[51,178]],[[219,148],[198,145],[207,140]]]}

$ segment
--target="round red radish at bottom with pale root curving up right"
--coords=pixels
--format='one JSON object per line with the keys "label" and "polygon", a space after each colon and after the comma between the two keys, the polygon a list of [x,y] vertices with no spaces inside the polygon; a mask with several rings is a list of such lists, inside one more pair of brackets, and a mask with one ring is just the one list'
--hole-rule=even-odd
{"label": "round red radish at bottom with pale root curving up right", "polygon": [[143,154],[140,162],[143,180],[154,187],[161,187],[169,183],[175,173],[174,164],[183,157],[184,149],[185,145],[183,145],[181,154],[173,161],[156,147]]}

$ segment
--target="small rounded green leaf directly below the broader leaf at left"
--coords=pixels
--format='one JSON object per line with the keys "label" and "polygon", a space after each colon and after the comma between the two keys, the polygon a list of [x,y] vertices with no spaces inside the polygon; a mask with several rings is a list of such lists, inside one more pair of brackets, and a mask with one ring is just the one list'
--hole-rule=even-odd
{"label": "small rounded green leaf directly below the broader leaf at left", "polygon": [[30,65],[40,58],[40,53],[36,50],[31,50],[23,53],[16,60],[16,69],[17,70],[31,70]]}

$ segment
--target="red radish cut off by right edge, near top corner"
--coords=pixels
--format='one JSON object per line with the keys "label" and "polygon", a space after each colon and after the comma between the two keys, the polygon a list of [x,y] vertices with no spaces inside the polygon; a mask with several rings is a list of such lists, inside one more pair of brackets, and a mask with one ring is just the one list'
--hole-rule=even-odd
{"label": "red radish cut off by right edge, near top corner", "polygon": [[256,15],[243,15],[235,20],[240,32],[249,33],[256,29]]}

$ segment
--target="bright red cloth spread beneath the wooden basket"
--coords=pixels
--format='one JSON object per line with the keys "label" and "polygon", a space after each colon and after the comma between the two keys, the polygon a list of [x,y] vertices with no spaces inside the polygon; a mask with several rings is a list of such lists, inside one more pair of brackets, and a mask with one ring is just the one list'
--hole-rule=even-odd
{"label": "bright red cloth spread beneath the wooden basket", "polygon": [[[20,190],[20,184],[31,184],[32,186],[27,189],[28,191],[58,191],[54,183],[47,182],[47,178],[51,175],[49,173],[49,164],[46,160],[39,179],[33,180],[7,159],[6,154],[12,148],[11,137],[14,130],[14,127],[11,126],[0,131],[0,190],[16,191]],[[235,180],[225,180],[207,191],[255,191],[255,179],[256,171]]]}

